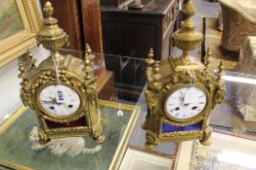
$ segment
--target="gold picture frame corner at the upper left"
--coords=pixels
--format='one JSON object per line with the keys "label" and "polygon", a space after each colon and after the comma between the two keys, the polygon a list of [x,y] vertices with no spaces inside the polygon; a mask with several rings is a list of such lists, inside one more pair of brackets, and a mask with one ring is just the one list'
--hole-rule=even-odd
{"label": "gold picture frame corner at the upper left", "polygon": [[0,67],[36,46],[35,35],[42,27],[38,0],[15,0],[23,30],[0,41]]}

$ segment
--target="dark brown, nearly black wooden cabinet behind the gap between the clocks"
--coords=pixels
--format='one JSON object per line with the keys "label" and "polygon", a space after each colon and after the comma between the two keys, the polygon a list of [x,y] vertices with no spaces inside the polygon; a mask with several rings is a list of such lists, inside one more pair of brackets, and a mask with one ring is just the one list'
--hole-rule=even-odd
{"label": "dark brown, nearly black wooden cabinet behind the gap between the clocks", "polygon": [[[143,0],[142,3],[143,10],[101,6],[105,53],[146,58],[153,48],[156,60],[171,54],[172,33],[181,23],[183,0]],[[107,69],[115,71],[116,82],[127,86],[127,90],[140,86],[140,91],[146,83],[145,70],[143,65],[136,68],[133,65],[134,62],[128,63],[127,68],[137,69],[136,76],[131,74],[132,70],[128,75],[119,75],[121,72],[115,71],[112,62],[107,62]]]}

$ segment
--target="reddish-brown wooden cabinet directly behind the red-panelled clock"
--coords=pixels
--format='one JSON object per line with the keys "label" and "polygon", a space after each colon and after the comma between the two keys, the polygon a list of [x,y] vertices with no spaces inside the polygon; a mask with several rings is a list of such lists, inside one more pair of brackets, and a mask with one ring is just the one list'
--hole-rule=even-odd
{"label": "reddish-brown wooden cabinet directly behind the red-panelled clock", "polygon": [[[43,4],[48,0],[41,0]],[[69,35],[69,46],[64,49],[74,50],[75,56],[83,57],[85,44],[93,52],[102,53],[102,25],[100,0],[50,0],[54,7],[54,17]],[[71,51],[70,51],[71,52]],[[114,99],[113,73],[106,70],[103,54],[96,54],[95,68],[99,98]],[[108,90],[107,93],[104,91]]]}

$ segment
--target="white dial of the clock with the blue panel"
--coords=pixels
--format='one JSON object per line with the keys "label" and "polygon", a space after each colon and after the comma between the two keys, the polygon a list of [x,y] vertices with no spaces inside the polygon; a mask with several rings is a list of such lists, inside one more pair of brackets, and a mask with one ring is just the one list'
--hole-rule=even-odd
{"label": "white dial of the clock with the blue panel", "polygon": [[167,114],[175,119],[191,119],[206,106],[206,94],[199,87],[183,87],[170,94],[165,102]]}

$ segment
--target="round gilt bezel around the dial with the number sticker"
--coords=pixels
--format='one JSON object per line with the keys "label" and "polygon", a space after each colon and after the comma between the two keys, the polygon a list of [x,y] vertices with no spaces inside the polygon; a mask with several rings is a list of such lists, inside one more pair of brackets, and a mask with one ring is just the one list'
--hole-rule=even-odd
{"label": "round gilt bezel around the dial with the number sticker", "polygon": [[83,105],[84,105],[84,102],[82,100],[82,93],[75,86],[68,85],[66,83],[62,83],[61,85],[65,85],[65,86],[70,87],[71,89],[73,89],[78,94],[78,97],[80,99],[80,106],[78,107],[78,109],[73,114],[62,117],[62,116],[57,116],[57,115],[51,114],[43,108],[43,106],[41,105],[40,100],[39,100],[39,95],[42,92],[42,90],[46,86],[49,86],[49,85],[58,85],[58,83],[57,82],[51,82],[51,83],[47,83],[46,85],[40,85],[38,87],[38,90],[36,91],[35,100],[36,100],[36,105],[37,105],[38,109],[40,110],[40,113],[44,114],[45,116],[47,116],[48,118],[50,118],[52,120],[53,119],[64,119],[64,120],[68,121],[69,119],[76,119],[76,118],[78,119],[78,118],[80,118],[81,114],[83,113]]}

